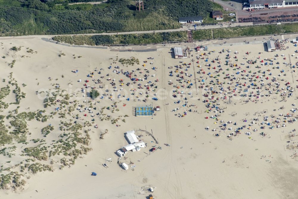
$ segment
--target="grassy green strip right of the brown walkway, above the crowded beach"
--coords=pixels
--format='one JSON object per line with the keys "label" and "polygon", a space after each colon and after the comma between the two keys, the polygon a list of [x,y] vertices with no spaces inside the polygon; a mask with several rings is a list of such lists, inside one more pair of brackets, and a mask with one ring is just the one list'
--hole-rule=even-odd
{"label": "grassy green strip right of the brown walkway, above the crowded beach", "polygon": [[217,29],[200,29],[193,31],[193,39],[218,39],[238,36],[257,36],[280,33],[297,33],[298,24],[258,25]]}

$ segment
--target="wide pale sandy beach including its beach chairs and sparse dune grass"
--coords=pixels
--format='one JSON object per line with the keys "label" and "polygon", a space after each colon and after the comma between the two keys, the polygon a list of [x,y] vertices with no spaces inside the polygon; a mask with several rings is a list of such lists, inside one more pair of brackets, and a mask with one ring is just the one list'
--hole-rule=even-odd
{"label": "wide pale sandy beach including its beach chairs and sparse dune grass", "polygon": [[[296,198],[298,47],[275,37],[286,38],[276,52],[267,52],[268,36],[182,43],[185,59],[172,57],[177,44],[93,49],[0,39],[0,88],[10,87],[0,115],[13,135],[0,147],[1,174],[26,181],[7,184],[0,197]],[[196,52],[199,45],[208,50]],[[139,105],[160,111],[136,117]],[[24,122],[27,130],[13,134]],[[119,160],[131,130],[147,147]],[[36,163],[49,167],[35,172]]]}

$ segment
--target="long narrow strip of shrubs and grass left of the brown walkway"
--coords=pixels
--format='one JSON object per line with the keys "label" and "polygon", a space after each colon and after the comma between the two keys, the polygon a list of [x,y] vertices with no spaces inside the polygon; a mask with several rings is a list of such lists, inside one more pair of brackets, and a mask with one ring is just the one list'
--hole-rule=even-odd
{"label": "long narrow strip of shrubs and grass left of the brown walkway", "polygon": [[94,36],[55,36],[53,40],[74,45],[118,45],[118,44],[150,44],[172,41],[186,41],[186,31],[145,33],[145,34],[118,34]]}

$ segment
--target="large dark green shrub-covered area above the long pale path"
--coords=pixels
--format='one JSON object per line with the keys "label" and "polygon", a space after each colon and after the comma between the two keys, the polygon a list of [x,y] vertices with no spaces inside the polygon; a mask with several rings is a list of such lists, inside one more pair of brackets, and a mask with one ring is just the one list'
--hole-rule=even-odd
{"label": "large dark green shrub-covered area above the long pale path", "polygon": [[[70,0],[81,1],[89,0]],[[146,0],[139,12],[131,0],[0,0],[0,36],[173,29],[179,17],[208,18],[212,8],[221,7],[206,0]]]}

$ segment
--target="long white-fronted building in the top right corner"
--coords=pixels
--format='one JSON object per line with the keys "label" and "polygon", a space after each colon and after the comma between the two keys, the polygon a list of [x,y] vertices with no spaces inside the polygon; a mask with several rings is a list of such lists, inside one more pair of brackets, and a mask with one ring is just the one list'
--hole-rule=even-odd
{"label": "long white-fronted building in the top right corner", "polygon": [[296,0],[250,0],[250,9],[279,8],[298,6]]}

